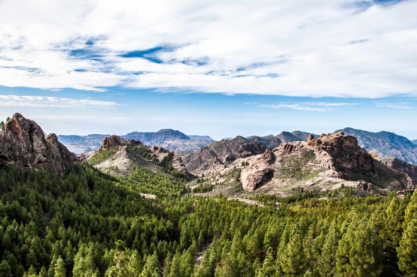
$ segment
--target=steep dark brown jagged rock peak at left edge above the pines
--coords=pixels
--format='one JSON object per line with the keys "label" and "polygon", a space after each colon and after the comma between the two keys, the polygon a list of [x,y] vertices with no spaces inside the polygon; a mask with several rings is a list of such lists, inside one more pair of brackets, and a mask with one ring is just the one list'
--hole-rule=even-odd
{"label": "steep dark brown jagged rock peak at left edge above the pines", "polygon": [[80,161],[58,141],[54,133],[45,137],[40,126],[15,113],[0,132],[0,166],[54,171],[67,174]]}

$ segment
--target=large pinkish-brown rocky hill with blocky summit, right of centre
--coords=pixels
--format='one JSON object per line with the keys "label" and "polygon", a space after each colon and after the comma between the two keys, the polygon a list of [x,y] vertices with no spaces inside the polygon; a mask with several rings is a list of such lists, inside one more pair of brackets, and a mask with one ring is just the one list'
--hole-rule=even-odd
{"label": "large pinkish-brown rocky hill with blocky summit, right of centre", "polygon": [[206,172],[207,179],[218,184],[211,194],[229,196],[251,191],[287,196],[299,189],[344,187],[351,187],[358,195],[386,195],[414,189],[407,174],[375,160],[358,146],[355,137],[343,132],[319,138],[310,135],[307,141],[282,143],[273,150],[233,161],[215,160]]}

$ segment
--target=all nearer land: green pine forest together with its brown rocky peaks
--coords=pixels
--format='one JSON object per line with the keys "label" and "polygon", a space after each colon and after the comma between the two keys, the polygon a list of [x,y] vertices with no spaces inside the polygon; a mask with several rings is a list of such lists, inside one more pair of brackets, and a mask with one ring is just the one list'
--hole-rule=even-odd
{"label": "all nearer land: green pine forest together with its brown rocky peaks", "polygon": [[15,114],[0,132],[0,275],[413,273],[417,197],[386,164],[416,166],[379,162],[344,133],[272,150],[259,139],[280,142],[216,142],[219,156],[238,150],[193,179],[172,151],[119,136],[80,162]]}

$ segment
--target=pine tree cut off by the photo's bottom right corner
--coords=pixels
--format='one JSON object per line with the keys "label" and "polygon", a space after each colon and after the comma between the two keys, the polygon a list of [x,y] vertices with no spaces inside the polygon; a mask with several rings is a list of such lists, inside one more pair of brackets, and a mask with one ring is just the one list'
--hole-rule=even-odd
{"label": "pine tree cut off by the photo's bottom right corner", "polygon": [[405,229],[399,247],[398,253],[398,267],[405,274],[405,276],[417,276],[417,214],[414,213]]}

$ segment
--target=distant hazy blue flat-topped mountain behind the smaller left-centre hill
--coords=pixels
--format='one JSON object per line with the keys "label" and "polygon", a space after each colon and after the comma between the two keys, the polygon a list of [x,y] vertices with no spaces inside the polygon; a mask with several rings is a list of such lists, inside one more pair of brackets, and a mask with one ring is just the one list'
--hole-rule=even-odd
{"label": "distant hazy blue flat-topped mountain behind the smaller left-centre hill", "polygon": [[[92,134],[87,136],[63,136],[59,135],[58,140],[64,144],[70,151],[79,155],[94,151],[101,146],[101,140],[110,135]],[[141,141],[146,145],[162,146],[164,149],[180,152],[182,154],[190,153],[200,149],[202,146],[214,142],[209,136],[192,136],[191,139],[186,134],[172,129],[162,129],[156,132],[132,132],[120,136],[122,139],[134,139]]]}

